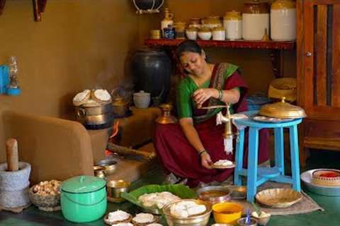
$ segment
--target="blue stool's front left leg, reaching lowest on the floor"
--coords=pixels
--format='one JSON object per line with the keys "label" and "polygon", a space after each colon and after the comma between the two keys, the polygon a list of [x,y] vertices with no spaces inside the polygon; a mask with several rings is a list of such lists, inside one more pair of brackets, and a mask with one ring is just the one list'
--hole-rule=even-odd
{"label": "blue stool's front left leg, reaching lowest on the floor", "polygon": [[254,202],[257,187],[257,157],[259,150],[259,130],[249,128],[248,169],[246,179],[246,201]]}

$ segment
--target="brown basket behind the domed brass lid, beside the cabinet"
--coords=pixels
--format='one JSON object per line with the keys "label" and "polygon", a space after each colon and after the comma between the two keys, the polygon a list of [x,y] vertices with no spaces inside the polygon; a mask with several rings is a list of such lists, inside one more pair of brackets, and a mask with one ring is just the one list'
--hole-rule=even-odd
{"label": "brown basket behind the domed brass lid, beside the cabinet", "polygon": [[273,99],[281,99],[289,102],[296,100],[296,79],[295,78],[278,78],[271,81],[268,88],[268,97]]}

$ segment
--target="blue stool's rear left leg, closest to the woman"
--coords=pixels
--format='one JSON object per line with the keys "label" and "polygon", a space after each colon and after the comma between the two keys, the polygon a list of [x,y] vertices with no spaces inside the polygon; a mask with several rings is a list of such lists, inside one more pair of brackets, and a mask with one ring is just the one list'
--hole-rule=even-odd
{"label": "blue stool's rear left leg, closest to the woman", "polygon": [[244,153],[244,129],[239,131],[239,141],[236,142],[235,152],[235,169],[234,169],[234,184],[242,185],[241,170],[243,169],[243,153]]}

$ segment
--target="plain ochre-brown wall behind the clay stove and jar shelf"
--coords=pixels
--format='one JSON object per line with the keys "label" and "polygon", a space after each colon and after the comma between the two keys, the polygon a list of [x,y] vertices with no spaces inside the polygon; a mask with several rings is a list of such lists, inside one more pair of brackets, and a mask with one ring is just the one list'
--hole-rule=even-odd
{"label": "plain ochre-brown wall behind the clay stove and jar shelf", "polygon": [[[168,0],[175,20],[222,16],[241,9],[243,1]],[[6,1],[0,16],[0,64],[18,59],[22,94],[0,95],[1,114],[8,109],[61,117],[72,112],[72,97],[85,88],[106,88],[127,81],[134,50],[162,14],[137,16],[130,0],[48,0],[42,22],[33,21],[32,1]],[[268,51],[206,49],[212,61],[242,67],[251,93],[265,92],[273,78]],[[295,74],[295,54],[285,53],[285,73]],[[0,162],[4,160],[0,120]],[[57,140],[57,138],[56,138]],[[19,144],[20,146],[20,144]]]}

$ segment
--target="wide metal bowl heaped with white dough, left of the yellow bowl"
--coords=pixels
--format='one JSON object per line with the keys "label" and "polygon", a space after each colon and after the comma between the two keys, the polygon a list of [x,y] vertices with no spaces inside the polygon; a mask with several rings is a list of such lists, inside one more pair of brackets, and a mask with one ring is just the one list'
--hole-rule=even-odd
{"label": "wide metal bowl heaped with white dough, left of the yellow bowl", "polygon": [[[172,205],[179,203],[181,201],[194,201],[197,204],[204,205],[207,209],[198,215],[193,215],[188,218],[177,218],[171,215],[170,208]],[[206,201],[196,200],[196,199],[182,199],[179,201],[174,201],[172,203],[167,204],[162,208],[162,211],[165,215],[166,222],[169,226],[205,226],[208,225],[210,213],[212,211],[212,205]]]}

